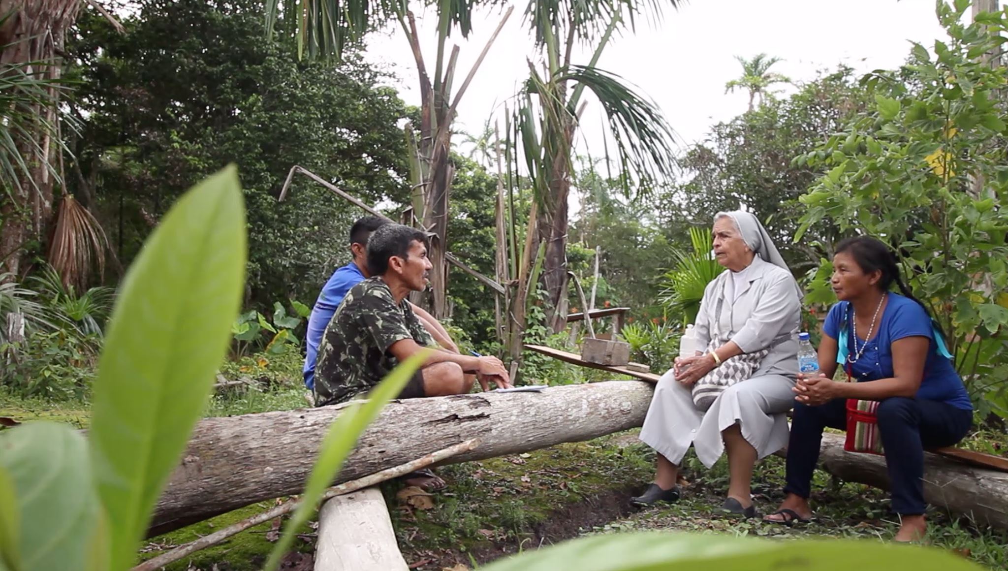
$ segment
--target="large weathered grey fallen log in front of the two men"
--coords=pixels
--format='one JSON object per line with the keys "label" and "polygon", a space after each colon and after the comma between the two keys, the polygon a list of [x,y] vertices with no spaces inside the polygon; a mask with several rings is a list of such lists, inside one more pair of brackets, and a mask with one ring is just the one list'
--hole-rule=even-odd
{"label": "large weathered grey fallen log in front of the two men", "polygon": [[[646,382],[608,381],[392,402],[362,436],[336,483],[472,438],[480,439],[479,448],[448,461],[527,452],[639,427],[651,393]],[[326,430],[346,407],[201,421],[158,499],[149,534],[299,493]]]}

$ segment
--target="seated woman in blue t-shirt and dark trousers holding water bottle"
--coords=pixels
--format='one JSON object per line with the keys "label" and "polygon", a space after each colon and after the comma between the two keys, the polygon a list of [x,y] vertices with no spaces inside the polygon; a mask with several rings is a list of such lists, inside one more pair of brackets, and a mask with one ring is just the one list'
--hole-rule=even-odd
{"label": "seated woman in blue t-shirt and dark trousers holding water bottle", "polygon": [[[878,401],[878,431],[901,519],[895,540],[916,541],[924,520],[924,448],[951,446],[970,430],[973,406],[941,333],[899,276],[895,256],[879,240],[837,246],[833,290],[840,303],[823,325],[820,372],[798,375],[787,446],[787,494],[765,520],[811,518],[808,496],[826,427],[845,429],[848,398]],[[902,296],[891,293],[895,283]],[[838,358],[839,356],[839,358]],[[857,382],[832,380],[837,365]]]}

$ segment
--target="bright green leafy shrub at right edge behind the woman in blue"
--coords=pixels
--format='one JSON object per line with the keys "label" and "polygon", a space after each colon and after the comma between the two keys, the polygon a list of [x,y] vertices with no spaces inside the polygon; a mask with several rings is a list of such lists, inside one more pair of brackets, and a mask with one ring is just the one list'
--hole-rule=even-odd
{"label": "bright green leafy shrub at right edge behind the woman in blue", "polygon": [[[828,173],[801,198],[795,240],[826,221],[878,236],[899,256],[911,289],[951,334],[950,348],[982,412],[1008,416],[1008,200],[1003,12],[961,22],[937,2],[949,41],[936,58],[914,45],[897,72],[862,80],[875,104],[796,163]],[[986,398],[984,398],[986,396]]]}

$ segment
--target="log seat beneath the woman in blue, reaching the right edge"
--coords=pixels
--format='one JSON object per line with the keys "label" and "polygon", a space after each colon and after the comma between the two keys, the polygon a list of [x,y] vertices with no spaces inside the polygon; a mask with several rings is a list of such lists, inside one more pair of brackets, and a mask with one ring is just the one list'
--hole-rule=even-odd
{"label": "log seat beneath the woman in blue, reaching the right edge", "polygon": [[[852,482],[889,489],[885,458],[844,450],[844,437],[824,434],[820,462],[831,474]],[[924,453],[924,499],[975,525],[1008,529],[1008,474]]]}

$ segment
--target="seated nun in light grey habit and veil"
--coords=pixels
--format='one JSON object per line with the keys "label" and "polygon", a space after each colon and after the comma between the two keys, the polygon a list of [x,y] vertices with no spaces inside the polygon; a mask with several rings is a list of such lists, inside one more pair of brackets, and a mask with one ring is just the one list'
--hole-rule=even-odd
{"label": "seated nun in light grey habit and veil", "polygon": [[[728,452],[730,483],[724,509],[755,516],[750,490],[756,460],[787,444],[785,413],[794,404],[798,372],[796,333],[801,292],[759,219],[719,212],[714,253],[728,268],[708,284],[695,330],[702,352],[676,359],[661,376],[640,439],[658,452],[654,482],[632,501],[674,501],[678,467],[692,445],[711,467]],[[748,378],[725,388],[707,411],[692,386],[715,367],[748,359]]]}

